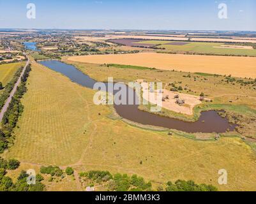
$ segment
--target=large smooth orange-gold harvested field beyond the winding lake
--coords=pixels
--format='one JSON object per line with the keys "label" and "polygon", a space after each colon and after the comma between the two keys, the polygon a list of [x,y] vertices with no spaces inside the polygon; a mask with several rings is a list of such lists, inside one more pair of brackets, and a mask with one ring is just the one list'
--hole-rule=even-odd
{"label": "large smooth orange-gold harvested field beyond the winding lake", "polygon": [[226,57],[181,54],[119,54],[69,57],[69,61],[94,64],[126,64],[149,68],[202,72],[256,78],[256,57]]}

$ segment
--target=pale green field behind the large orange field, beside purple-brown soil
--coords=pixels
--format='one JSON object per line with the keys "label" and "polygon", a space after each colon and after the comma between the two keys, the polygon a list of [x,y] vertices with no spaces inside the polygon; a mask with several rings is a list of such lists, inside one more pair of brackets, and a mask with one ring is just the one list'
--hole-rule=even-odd
{"label": "pale green field behind the large orange field, beside purple-brown soil", "polygon": [[[225,43],[201,43],[201,42],[188,42],[186,45],[167,45],[167,43],[174,43],[174,41],[140,41],[137,43],[147,43],[158,45],[159,48],[165,48],[168,51],[176,52],[195,52],[200,54],[223,54],[223,55],[248,55],[256,56],[256,50],[238,49],[238,48],[218,48],[224,46]],[[161,44],[161,45],[159,45]]]}

